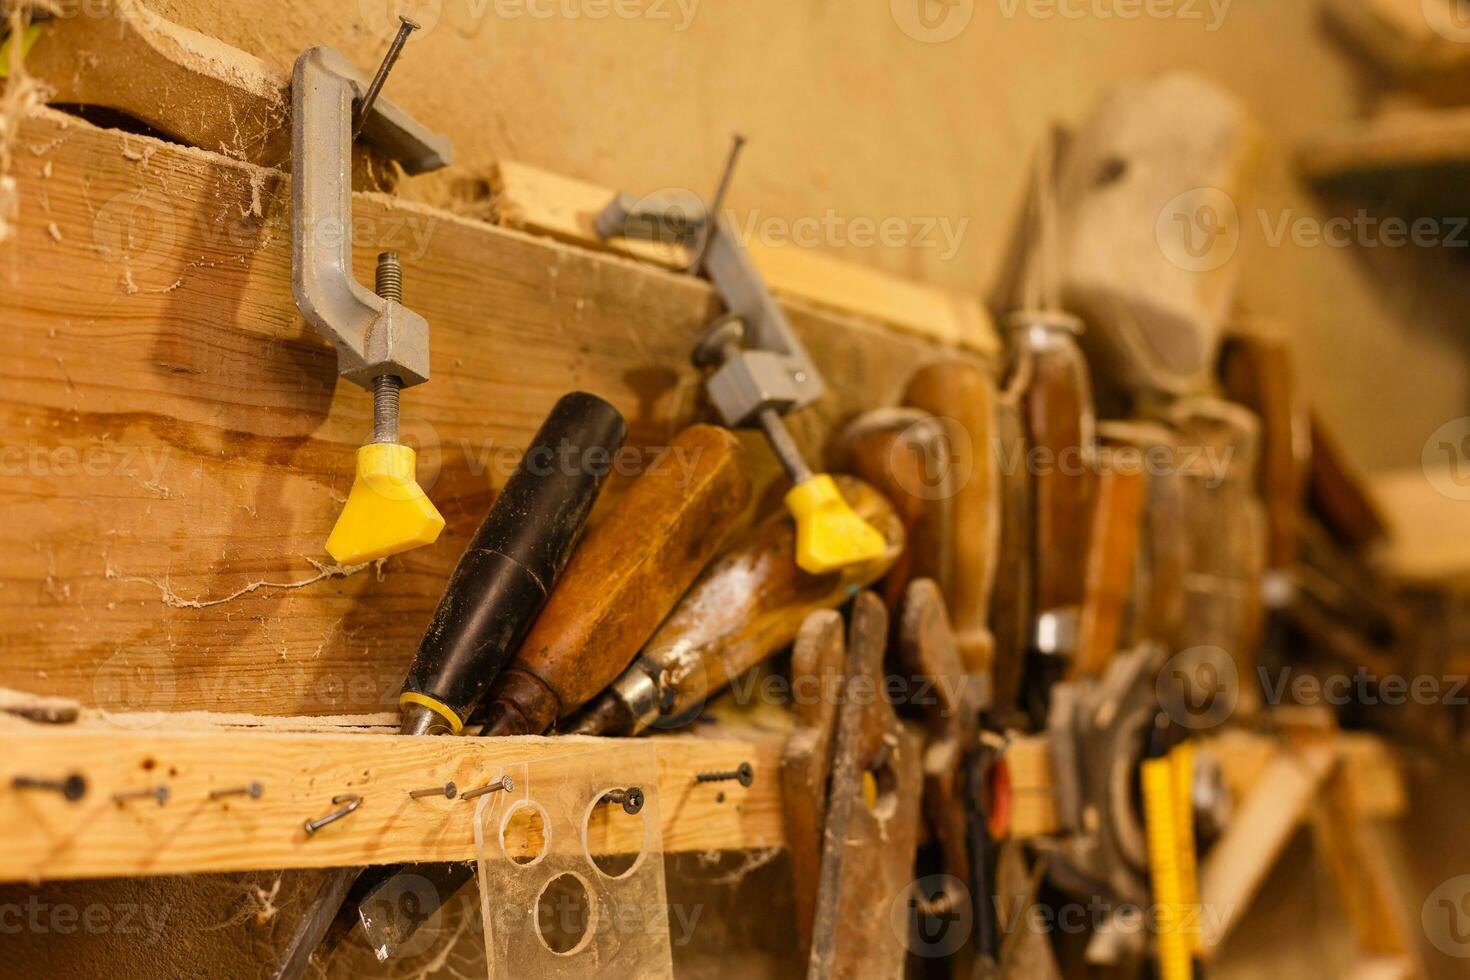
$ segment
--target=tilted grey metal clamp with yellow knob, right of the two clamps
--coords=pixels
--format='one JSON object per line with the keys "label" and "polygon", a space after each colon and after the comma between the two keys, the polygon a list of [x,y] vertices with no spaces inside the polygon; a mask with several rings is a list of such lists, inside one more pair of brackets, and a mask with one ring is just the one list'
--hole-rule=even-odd
{"label": "tilted grey metal clamp with yellow knob, right of the two clamps", "polygon": [[689,272],[709,273],[728,310],[700,339],[694,363],[713,369],[706,392],[726,426],[766,433],[792,483],[786,507],[797,519],[797,564],[820,574],[878,558],[883,536],[853,513],[831,476],[807,466],[784,422],[786,413],[819,400],[826,385],[734,228],[720,217],[742,144],[736,137],[710,207],[692,194],[642,200],[619,194],[597,216],[597,231],[613,238],[672,229],[678,239],[692,242]]}

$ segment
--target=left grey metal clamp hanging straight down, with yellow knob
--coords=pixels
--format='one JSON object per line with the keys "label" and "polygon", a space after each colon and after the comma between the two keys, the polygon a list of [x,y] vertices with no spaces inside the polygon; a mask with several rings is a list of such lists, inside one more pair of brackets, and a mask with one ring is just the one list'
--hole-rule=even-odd
{"label": "left grey metal clamp hanging straight down, with yellow knob", "polygon": [[344,564],[432,544],[444,529],[415,479],[413,450],[398,442],[398,392],[429,379],[429,325],[403,306],[397,256],[381,259],[376,294],[351,272],[354,126],[409,173],[437,170],[454,153],[376,97],[404,38],[373,82],[329,47],[304,51],[291,79],[291,289],[301,316],[337,348],[338,373],[373,394],[372,442],[357,450],[353,488],[326,539]]}

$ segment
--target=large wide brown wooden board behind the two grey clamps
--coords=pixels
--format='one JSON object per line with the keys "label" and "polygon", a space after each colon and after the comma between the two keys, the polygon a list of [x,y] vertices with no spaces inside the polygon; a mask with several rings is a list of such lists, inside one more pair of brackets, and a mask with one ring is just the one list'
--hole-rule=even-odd
{"label": "large wide brown wooden board behind the two grey clamps", "polygon": [[[197,150],[25,118],[0,244],[0,686],[113,711],[391,710],[438,592],[559,395],[631,435],[604,504],[706,417],[689,347],[707,284],[382,195],[354,198],[356,264],[397,248],[434,376],[403,397],[448,526],[373,567],[329,564],[370,398],[290,291],[288,181]],[[792,417],[820,457],[897,401],[933,344],[807,307],[831,382]],[[757,498],[778,467],[742,433]]]}

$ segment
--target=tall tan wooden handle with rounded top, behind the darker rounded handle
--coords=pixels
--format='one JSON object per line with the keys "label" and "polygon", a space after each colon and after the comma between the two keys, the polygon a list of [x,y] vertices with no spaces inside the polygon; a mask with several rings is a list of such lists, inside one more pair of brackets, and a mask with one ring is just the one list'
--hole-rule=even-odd
{"label": "tall tan wooden handle with rounded top, behind the darker rounded handle", "polygon": [[944,426],[947,455],[938,463],[950,470],[954,483],[950,574],[926,574],[922,567],[916,567],[914,574],[935,579],[944,591],[966,671],[989,673],[995,654],[991,594],[1001,539],[997,460],[1004,451],[995,445],[995,382],[969,361],[936,361],[908,379],[904,404],[928,411]]}

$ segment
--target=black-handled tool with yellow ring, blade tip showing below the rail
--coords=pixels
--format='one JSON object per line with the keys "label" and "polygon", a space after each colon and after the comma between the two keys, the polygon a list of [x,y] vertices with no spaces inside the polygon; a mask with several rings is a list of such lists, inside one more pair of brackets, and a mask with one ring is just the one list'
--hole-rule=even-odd
{"label": "black-handled tool with yellow ring, blade tip showing below the rail", "polygon": [[[404,735],[465,727],[545,605],[626,435],[622,414],[595,395],[572,392],[551,408],[444,586],[398,695]],[[306,974],[362,871],[326,874],[276,980]]]}

